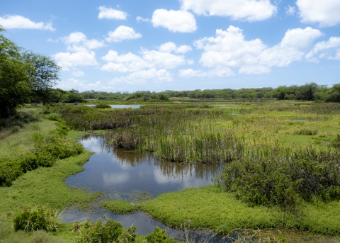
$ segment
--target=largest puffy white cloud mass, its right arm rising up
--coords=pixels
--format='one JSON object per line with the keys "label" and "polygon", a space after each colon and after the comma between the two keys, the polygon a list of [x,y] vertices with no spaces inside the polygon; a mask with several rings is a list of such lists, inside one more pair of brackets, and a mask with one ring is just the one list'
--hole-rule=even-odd
{"label": "largest puffy white cloud mass, its right arm rising up", "polygon": [[194,45],[203,50],[200,63],[204,67],[236,67],[242,74],[270,72],[270,67],[285,67],[301,61],[321,31],[307,27],[287,30],[280,43],[267,47],[260,39],[245,40],[240,28],[229,26],[216,30],[215,37],[197,40]]}

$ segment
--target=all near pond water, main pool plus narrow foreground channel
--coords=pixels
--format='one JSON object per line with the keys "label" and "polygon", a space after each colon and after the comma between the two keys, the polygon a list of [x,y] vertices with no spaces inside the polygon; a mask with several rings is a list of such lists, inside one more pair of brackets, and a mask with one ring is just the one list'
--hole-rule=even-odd
{"label": "all near pond water, main pool plus narrow foreground channel", "polygon": [[[220,164],[167,162],[149,153],[108,147],[98,135],[83,137],[79,142],[85,149],[96,154],[84,164],[84,171],[70,176],[66,182],[71,187],[105,192],[109,199],[133,201],[135,195],[153,198],[183,188],[208,186],[221,171]],[[69,209],[63,215],[64,222],[81,222],[86,219],[96,221],[106,215],[111,220],[121,222],[124,227],[136,225],[137,234],[153,232],[154,227],[158,226],[166,229],[171,237],[183,236],[183,232],[166,227],[141,212],[119,215],[94,205],[94,210],[89,212]],[[200,235],[200,232],[191,234]],[[207,234],[203,237],[207,237]]]}

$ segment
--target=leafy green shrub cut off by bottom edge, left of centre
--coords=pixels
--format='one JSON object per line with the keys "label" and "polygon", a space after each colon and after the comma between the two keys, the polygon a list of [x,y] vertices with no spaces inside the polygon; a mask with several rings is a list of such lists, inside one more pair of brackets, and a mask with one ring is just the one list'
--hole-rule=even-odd
{"label": "leafy green shrub cut off by bottom edge, left of centre", "polygon": [[124,229],[119,222],[107,220],[99,222],[75,222],[73,232],[76,234],[76,242],[83,243],[111,243],[111,242],[135,242],[136,226]]}

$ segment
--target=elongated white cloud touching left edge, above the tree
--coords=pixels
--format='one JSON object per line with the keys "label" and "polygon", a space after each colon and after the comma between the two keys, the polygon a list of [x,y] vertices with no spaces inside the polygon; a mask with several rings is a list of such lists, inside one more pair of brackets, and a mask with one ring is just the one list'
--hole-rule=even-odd
{"label": "elongated white cloud touching left edge, above the tree", "polygon": [[52,23],[36,23],[20,15],[5,15],[4,17],[0,17],[0,25],[6,29],[23,28],[55,31],[55,28],[52,28]]}

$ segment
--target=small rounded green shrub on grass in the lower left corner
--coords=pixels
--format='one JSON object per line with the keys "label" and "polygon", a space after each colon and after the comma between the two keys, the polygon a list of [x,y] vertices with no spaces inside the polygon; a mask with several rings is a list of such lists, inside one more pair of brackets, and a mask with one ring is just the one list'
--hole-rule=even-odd
{"label": "small rounded green shrub on grass in the lower left corner", "polygon": [[60,217],[52,208],[45,206],[21,206],[14,217],[14,230],[46,230],[53,232],[60,227]]}

